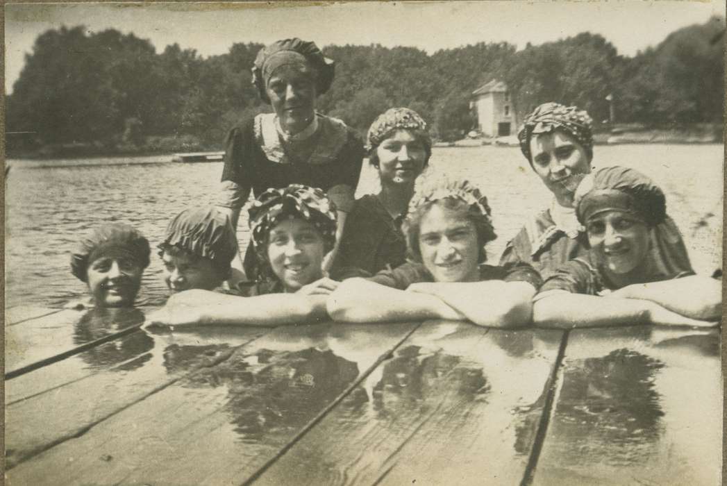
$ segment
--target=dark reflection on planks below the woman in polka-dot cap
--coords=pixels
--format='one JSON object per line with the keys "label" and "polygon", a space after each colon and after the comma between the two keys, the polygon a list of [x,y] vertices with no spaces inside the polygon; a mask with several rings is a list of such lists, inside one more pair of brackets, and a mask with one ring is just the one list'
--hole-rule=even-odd
{"label": "dark reflection on planks below the woman in polka-dot cap", "polygon": [[244,441],[259,441],[300,429],[357,377],[358,365],[330,350],[260,349],[252,355],[234,354],[190,376],[186,385],[227,386],[225,409],[235,431]]}

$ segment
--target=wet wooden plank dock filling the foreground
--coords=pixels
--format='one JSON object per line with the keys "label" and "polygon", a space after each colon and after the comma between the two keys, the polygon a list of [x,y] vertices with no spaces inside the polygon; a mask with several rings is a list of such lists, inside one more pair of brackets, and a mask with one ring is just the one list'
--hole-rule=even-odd
{"label": "wet wooden plank dock filling the foreground", "polygon": [[15,308],[8,485],[718,485],[720,331]]}

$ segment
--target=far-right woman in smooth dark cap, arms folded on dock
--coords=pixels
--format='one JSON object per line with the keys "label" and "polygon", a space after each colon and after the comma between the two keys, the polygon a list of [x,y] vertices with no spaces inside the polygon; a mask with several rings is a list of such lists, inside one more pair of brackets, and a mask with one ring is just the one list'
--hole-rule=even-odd
{"label": "far-right woman in smooth dark cap, arms folded on dock", "polygon": [[[710,326],[721,315],[720,281],[687,271],[664,276],[651,232],[667,218],[664,193],[625,167],[586,176],[574,194],[590,250],[559,267],[535,298],[537,325]],[[605,296],[601,298],[601,296]]]}

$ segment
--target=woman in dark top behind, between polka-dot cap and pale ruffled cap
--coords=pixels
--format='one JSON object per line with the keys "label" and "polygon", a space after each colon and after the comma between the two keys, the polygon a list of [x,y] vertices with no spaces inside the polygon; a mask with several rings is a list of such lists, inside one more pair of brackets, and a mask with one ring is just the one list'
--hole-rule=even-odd
{"label": "woman in dark top behind, between polka-dot cap and pale ruffled cap", "polygon": [[432,154],[427,123],[409,108],[391,108],[371,124],[369,163],[381,189],[356,200],[346,219],[335,266],[358,267],[371,274],[406,262],[401,222],[414,182]]}

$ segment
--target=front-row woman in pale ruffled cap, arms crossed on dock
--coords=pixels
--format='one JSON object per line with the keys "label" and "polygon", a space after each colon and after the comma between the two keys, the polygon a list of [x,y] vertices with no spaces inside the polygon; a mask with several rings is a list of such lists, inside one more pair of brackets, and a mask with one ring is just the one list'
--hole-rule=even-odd
{"label": "front-row woman in pale ruffled cap, arms crossed on dock", "polygon": [[529,324],[540,276],[529,264],[485,264],[485,245],[496,238],[487,199],[467,181],[431,177],[418,184],[403,225],[412,261],[342,282],[329,297],[331,317]]}

